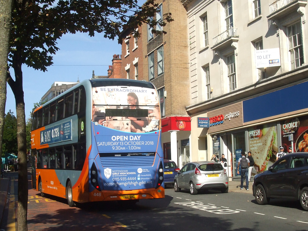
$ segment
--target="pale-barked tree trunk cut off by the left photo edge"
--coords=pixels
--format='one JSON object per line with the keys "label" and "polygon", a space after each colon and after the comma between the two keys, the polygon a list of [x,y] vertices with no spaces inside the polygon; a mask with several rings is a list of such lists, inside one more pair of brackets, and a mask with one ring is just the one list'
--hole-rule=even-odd
{"label": "pale-barked tree trunk cut off by the left photo edge", "polygon": [[[0,0],[0,157],[2,156],[3,121],[6,102],[6,73],[8,70],[11,12],[13,0]],[[0,161],[2,166],[2,159]]]}

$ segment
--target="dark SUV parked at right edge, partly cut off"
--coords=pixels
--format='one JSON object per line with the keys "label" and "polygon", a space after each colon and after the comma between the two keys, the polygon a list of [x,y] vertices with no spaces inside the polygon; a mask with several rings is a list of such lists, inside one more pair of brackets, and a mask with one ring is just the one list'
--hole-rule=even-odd
{"label": "dark SUV parked at right edge, partly cut off", "polygon": [[296,199],[308,211],[308,153],[287,154],[255,175],[253,196],[259,205],[270,198]]}

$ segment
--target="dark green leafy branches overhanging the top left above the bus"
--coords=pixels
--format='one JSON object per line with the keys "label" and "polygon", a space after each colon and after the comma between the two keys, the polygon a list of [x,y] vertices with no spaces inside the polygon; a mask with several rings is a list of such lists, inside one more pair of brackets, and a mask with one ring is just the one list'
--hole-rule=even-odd
{"label": "dark green leafy branches overhanging the top left above the bus", "polygon": [[[114,39],[125,29],[136,29],[142,23],[152,28],[158,24],[149,21],[158,11],[158,4],[148,0],[138,6],[137,0],[15,0],[12,11],[10,66],[25,63],[36,70],[46,71],[52,65],[52,56],[59,50],[57,39],[77,31],[90,36],[104,33]],[[171,22],[165,14],[159,24]],[[153,33],[164,33],[153,30]],[[136,33],[139,35],[139,32]]]}

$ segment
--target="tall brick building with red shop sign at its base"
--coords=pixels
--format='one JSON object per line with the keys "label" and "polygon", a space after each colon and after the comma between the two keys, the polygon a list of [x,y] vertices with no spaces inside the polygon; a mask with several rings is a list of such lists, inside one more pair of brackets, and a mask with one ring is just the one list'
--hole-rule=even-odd
{"label": "tall brick building with red shop sign at its base", "polygon": [[167,32],[157,36],[152,34],[152,28],[142,24],[138,28],[141,37],[137,41],[131,30],[123,31],[122,78],[150,81],[156,86],[160,97],[164,157],[181,167],[191,161],[190,117],[185,110],[190,105],[186,10],[178,0],[157,3],[160,13],[155,19],[158,21],[170,12],[174,21],[156,28]]}

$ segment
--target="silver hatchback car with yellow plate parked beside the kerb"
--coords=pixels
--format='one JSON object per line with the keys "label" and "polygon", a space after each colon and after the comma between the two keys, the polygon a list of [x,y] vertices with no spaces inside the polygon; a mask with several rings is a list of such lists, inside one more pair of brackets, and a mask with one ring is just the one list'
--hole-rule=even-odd
{"label": "silver hatchback car with yellow plate parked beside the kerb", "polygon": [[213,161],[190,162],[174,177],[174,191],[189,189],[195,195],[201,189],[220,189],[227,193],[229,180],[226,170],[220,163]]}

